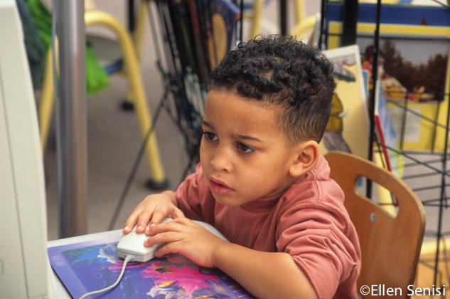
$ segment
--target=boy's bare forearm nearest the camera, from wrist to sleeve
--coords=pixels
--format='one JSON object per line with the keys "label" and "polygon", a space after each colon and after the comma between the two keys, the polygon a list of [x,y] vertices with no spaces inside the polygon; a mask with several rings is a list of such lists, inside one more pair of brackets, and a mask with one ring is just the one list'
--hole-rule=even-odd
{"label": "boy's bare forearm nearest the camera, from wrist to sleeve", "polygon": [[257,298],[317,298],[288,253],[255,251],[227,243],[216,248],[213,263]]}

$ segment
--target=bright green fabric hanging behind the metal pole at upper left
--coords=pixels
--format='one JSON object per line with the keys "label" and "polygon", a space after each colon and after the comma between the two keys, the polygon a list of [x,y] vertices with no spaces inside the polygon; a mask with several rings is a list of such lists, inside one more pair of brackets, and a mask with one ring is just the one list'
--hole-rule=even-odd
{"label": "bright green fabric hanging behind the metal pole at upper left", "polygon": [[[26,0],[31,19],[38,29],[43,47],[48,49],[52,43],[52,15],[41,0]],[[45,61],[45,53],[41,58]],[[92,48],[86,45],[86,91],[92,95],[109,86],[109,76],[95,57]]]}

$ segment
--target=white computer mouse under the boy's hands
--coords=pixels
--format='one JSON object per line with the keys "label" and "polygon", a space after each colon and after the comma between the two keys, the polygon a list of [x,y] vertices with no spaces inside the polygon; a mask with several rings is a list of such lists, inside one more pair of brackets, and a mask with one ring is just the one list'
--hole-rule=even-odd
{"label": "white computer mouse under the boy's hands", "polygon": [[[171,221],[171,218],[164,218],[161,224],[164,222]],[[132,256],[131,261],[146,262],[154,258],[156,251],[158,251],[164,244],[155,244],[151,247],[144,246],[144,241],[150,236],[145,233],[136,233],[136,226],[129,232],[129,234],[124,234],[120,238],[117,244],[117,256],[119,258],[126,258],[127,256]]]}

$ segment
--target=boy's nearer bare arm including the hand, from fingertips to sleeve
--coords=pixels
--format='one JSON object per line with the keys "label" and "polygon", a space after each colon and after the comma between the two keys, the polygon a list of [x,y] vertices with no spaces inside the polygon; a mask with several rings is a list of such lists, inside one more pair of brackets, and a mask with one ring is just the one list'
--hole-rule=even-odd
{"label": "boy's nearer bare arm including the hand, from fingertips to sleeve", "polygon": [[316,298],[288,253],[228,243],[186,218],[153,226],[150,235],[145,246],[166,243],[156,256],[179,253],[200,266],[220,268],[257,298]]}

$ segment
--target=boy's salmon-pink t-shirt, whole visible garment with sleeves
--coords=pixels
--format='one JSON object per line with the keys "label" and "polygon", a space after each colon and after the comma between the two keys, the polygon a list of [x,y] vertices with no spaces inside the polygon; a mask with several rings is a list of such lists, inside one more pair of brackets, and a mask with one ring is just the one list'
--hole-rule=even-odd
{"label": "boy's salmon-pink t-shirt, whole visible garment with sleeves", "polygon": [[225,206],[214,200],[198,165],[178,187],[176,198],[186,217],[208,222],[232,243],[289,253],[318,298],[357,298],[358,235],[343,205],[344,194],[329,174],[326,159],[319,157],[283,194]]}

